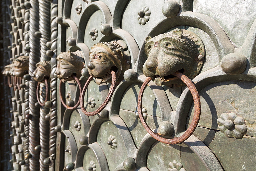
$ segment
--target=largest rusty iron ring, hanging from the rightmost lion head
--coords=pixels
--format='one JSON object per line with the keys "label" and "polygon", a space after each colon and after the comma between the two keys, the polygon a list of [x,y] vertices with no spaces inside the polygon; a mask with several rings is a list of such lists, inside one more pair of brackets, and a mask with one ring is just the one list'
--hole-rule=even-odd
{"label": "largest rusty iron ring, hanging from the rightmost lion head", "polygon": [[193,82],[187,76],[185,76],[184,74],[182,74],[182,73],[180,73],[178,71],[176,71],[172,75],[178,77],[179,79],[181,79],[187,85],[187,87],[189,88],[189,90],[190,90],[190,92],[191,92],[191,94],[193,96],[194,103],[195,103],[195,113],[194,113],[193,120],[192,120],[189,128],[185,131],[185,133],[182,136],[176,137],[176,138],[171,138],[171,139],[163,138],[163,137],[157,135],[156,133],[154,133],[150,129],[150,127],[147,125],[147,123],[145,122],[145,119],[144,119],[144,117],[142,115],[141,101],[142,101],[142,96],[143,96],[143,92],[145,90],[145,87],[147,86],[148,82],[150,82],[150,80],[151,80],[150,77],[148,77],[144,81],[144,83],[142,84],[140,92],[139,92],[139,96],[138,96],[138,113],[139,113],[139,117],[140,117],[142,125],[144,126],[146,131],[153,138],[155,138],[157,141],[160,141],[160,142],[165,143],[165,144],[178,144],[178,143],[182,143],[185,140],[187,140],[193,134],[193,132],[195,131],[196,126],[197,126],[197,124],[199,122],[199,119],[200,119],[200,114],[201,114],[200,98],[199,98],[198,92],[197,92],[196,87],[193,84]]}

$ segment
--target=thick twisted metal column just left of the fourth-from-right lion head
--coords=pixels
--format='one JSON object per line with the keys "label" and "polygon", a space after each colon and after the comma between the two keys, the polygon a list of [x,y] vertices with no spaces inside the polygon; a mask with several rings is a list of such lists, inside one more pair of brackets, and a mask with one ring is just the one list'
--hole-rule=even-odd
{"label": "thick twisted metal column just left of the fourth-from-right lion head", "polygon": [[[39,62],[39,38],[36,32],[39,31],[39,7],[38,0],[30,0],[29,9],[29,75],[31,76],[36,69],[36,63]],[[32,157],[29,159],[29,170],[39,170],[39,152],[35,147],[39,145],[39,109],[35,107],[37,83],[29,81],[29,114],[32,115],[29,121],[29,153]]]}

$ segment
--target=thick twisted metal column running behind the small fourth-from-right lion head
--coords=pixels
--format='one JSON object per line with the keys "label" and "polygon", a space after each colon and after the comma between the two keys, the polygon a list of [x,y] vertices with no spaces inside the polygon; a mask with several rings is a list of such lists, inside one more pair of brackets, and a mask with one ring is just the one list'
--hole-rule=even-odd
{"label": "thick twisted metal column running behind the small fourth-from-right lion head", "polygon": [[[39,2],[39,31],[41,33],[40,38],[40,61],[49,61],[50,58],[46,55],[46,51],[49,48],[46,43],[50,41],[50,2],[47,0],[38,0]],[[40,84],[40,101],[45,101],[45,83]],[[47,92],[48,93],[48,92]],[[49,121],[45,120],[45,116],[49,113],[49,108],[45,106],[40,107],[40,170],[48,170],[49,166],[44,164],[44,159],[49,157]]]}

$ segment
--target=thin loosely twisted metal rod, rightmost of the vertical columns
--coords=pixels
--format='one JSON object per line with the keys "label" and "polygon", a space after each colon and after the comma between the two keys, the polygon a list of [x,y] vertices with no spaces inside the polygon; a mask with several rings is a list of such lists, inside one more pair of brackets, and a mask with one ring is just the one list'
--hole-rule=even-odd
{"label": "thin loosely twisted metal rod, rightmost of the vertical columns", "polygon": [[50,165],[49,170],[55,170],[55,157],[56,157],[56,132],[54,127],[57,125],[57,78],[55,76],[55,70],[57,66],[57,35],[58,24],[56,23],[56,17],[58,16],[58,0],[51,2],[51,50],[53,56],[51,57],[51,110],[50,110],[50,140],[49,140],[49,156]]}

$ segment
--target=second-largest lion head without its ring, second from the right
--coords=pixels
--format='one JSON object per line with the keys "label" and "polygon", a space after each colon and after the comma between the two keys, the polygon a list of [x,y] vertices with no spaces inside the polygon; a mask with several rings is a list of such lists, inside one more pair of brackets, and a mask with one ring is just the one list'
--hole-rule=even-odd
{"label": "second-largest lion head without its ring, second from the right", "polygon": [[97,84],[111,82],[111,70],[116,73],[117,83],[124,79],[123,73],[131,63],[130,57],[124,52],[126,48],[121,40],[97,43],[91,48],[88,68]]}

